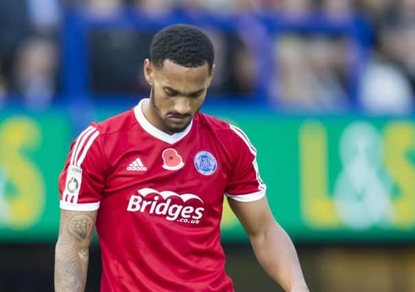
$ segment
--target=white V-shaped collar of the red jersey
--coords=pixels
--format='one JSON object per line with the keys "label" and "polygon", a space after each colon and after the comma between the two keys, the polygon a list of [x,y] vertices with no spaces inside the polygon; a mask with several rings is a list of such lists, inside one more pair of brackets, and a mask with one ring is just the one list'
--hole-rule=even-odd
{"label": "white V-shaped collar of the red jersey", "polygon": [[174,144],[182,140],[191,130],[191,125],[193,124],[193,119],[190,121],[190,124],[179,133],[174,133],[169,135],[160,129],[154,127],[148,120],[145,118],[143,114],[143,103],[144,101],[150,101],[150,98],[143,98],[138,105],[134,107],[134,115],[137,118],[137,122],[141,125],[141,127],[149,133],[150,135],[156,137],[158,140],[162,140],[168,144]]}

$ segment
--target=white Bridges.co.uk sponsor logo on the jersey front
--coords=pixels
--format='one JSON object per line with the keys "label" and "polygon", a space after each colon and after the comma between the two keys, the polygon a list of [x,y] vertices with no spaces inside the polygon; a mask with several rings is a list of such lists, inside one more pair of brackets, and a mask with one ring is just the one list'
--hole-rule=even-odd
{"label": "white Bridges.co.uk sponsor logo on the jersey front", "polygon": [[139,189],[137,193],[139,195],[130,197],[127,211],[150,213],[163,216],[169,221],[187,224],[199,224],[200,219],[202,219],[204,208],[193,207],[187,203],[194,200],[204,203],[201,198],[194,194],[156,191],[149,187]]}

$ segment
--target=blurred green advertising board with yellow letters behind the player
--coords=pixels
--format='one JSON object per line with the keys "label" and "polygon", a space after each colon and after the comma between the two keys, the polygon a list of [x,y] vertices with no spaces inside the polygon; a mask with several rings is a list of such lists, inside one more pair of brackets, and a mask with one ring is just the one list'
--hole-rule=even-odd
{"label": "blurred green advertising board with yellow letters behind the player", "polygon": [[[96,121],[117,113],[97,112]],[[415,239],[412,120],[207,112],[250,137],[272,212],[295,240]],[[58,174],[77,135],[60,109],[1,111],[0,241],[56,240]],[[226,203],[222,239],[247,240]]]}

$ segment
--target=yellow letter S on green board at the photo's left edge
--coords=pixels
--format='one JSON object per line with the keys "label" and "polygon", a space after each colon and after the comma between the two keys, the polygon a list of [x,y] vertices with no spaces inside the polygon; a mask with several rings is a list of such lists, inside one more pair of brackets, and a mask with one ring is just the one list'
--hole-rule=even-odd
{"label": "yellow letter S on green board at the photo's left edge", "polygon": [[43,213],[43,176],[24,153],[39,144],[40,129],[34,120],[14,117],[0,123],[0,165],[15,190],[5,194],[9,215],[4,223],[10,228],[29,228]]}

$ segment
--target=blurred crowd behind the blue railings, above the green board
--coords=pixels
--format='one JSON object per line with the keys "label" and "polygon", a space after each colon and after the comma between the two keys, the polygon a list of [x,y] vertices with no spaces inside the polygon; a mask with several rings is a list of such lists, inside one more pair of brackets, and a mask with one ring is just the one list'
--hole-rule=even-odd
{"label": "blurred crowd behind the blue railings, above the green board", "polygon": [[[252,98],[259,79],[268,75],[266,98],[284,111],[410,114],[414,109],[415,0],[0,0],[0,105],[10,99],[45,108],[64,95],[62,26],[65,10],[74,7],[97,17],[126,7],[152,17],[172,10],[274,13],[294,22],[324,16],[328,26],[358,16],[370,27],[359,46],[351,36],[330,30],[278,34],[270,42],[273,63],[265,75],[250,36],[206,31],[217,63],[209,93]],[[148,94],[141,67],[151,38],[151,31],[92,31],[89,92]]]}

